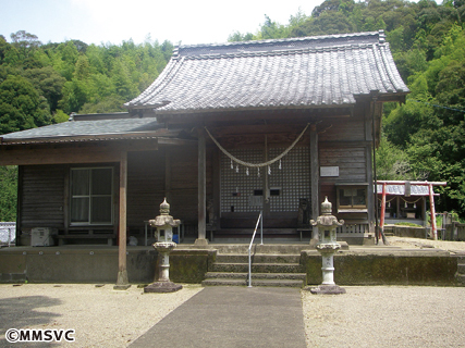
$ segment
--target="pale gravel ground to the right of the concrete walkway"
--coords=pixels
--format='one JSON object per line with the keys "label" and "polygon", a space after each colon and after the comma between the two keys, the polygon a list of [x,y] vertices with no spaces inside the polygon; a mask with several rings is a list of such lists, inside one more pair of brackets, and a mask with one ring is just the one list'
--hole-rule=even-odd
{"label": "pale gravel ground to the right of the concrete walkway", "polygon": [[302,291],[307,347],[465,347],[465,288],[347,286]]}

